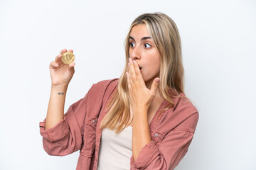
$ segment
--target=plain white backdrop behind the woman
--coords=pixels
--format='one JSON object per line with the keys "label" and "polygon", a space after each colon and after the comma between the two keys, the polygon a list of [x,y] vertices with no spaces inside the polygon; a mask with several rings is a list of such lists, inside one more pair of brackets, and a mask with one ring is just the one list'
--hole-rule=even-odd
{"label": "plain white backdrop behind the woman", "polygon": [[185,93],[199,111],[178,170],[256,169],[255,1],[0,1],[0,169],[75,169],[79,152],[44,152],[39,122],[50,97],[48,66],[73,49],[75,75],[65,101],[119,78],[124,38],[142,13],[178,26]]}

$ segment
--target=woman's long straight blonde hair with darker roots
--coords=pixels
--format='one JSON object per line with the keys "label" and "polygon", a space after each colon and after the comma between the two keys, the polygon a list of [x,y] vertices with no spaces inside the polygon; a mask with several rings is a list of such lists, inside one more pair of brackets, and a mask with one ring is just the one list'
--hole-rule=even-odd
{"label": "woman's long straight blonde hair with darker roots", "polygon": [[113,92],[109,103],[107,103],[107,115],[100,124],[101,129],[109,128],[110,130],[116,130],[115,132],[118,133],[132,123],[129,123],[129,91],[125,73],[128,70],[127,64],[129,61],[129,35],[132,28],[139,24],[146,24],[151,39],[161,56],[159,93],[169,104],[159,115],[174,106],[173,98],[178,96],[187,98],[180,95],[181,93],[184,94],[183,64],[181,38],[176,24],[164,13],[144,13],[132,22],[124,41],[126,53],[124,71],[119,77],[117,90]]}

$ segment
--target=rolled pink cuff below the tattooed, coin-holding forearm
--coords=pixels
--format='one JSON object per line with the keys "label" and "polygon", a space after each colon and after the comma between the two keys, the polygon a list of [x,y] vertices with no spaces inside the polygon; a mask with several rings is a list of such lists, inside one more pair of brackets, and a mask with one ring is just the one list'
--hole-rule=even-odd
{"label": "rolled pink cuff below the tattooed, coin-holding forearm", "polygon": [[53,128],[45,129],[46,119],[43,122],[39,123],[40,134],[41,136],[50,142],[57,142],[58,140],[62,140],[64,137],[68,135],[68,123],[65,120],[65,116],[63,120],[60,120]]}

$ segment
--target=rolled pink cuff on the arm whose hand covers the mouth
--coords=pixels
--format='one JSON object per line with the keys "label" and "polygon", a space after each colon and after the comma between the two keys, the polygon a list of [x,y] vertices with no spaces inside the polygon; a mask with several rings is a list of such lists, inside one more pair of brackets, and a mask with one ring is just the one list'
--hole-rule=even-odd
{"label": "rolled pink cuff on the arm whose hand covers the mouth", "polygon": [[[150,153],[150,154],[149,154]],[[149,142],[147,145],[142,147],[142,150],[139,152],[139,156],[134,162],[133,157],[131,157],[131,169],[145,169],[146,166],[156,159],[156,157],[160,154],[158,147],[156,147],[153,140]]]}

